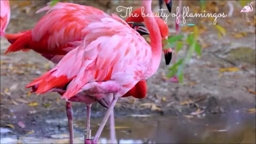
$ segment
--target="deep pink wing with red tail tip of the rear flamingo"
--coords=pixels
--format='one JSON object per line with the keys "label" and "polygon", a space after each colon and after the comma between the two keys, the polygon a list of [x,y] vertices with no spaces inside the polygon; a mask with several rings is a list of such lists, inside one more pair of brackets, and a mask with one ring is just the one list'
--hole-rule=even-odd
{"label": "deep pink wing with red tail tip of the rear flamingo", "polygon": [[7,35],[7,38],[15,39],[15,42],[7,49],[6,53],[27,47],[41,54],[65,55],[77,47],[85,37],[83,28],[91,22],[85,18],[85,15],[105,14],[91,6],[60,2],[52,7],[45,6],[37,13],[43,11],[47,12],[33,29],[19,37]]}

